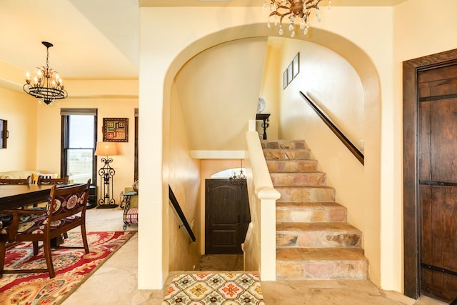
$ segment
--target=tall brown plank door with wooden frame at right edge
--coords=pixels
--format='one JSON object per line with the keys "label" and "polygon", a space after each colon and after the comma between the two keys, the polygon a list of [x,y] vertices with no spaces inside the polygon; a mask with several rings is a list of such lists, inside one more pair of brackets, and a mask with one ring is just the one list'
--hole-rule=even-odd
{"label": "tall brown plank door with wooden frame at right edge", "polygon": [[403,61],[404,291],[457,296],[457,49]]}

